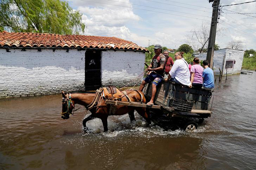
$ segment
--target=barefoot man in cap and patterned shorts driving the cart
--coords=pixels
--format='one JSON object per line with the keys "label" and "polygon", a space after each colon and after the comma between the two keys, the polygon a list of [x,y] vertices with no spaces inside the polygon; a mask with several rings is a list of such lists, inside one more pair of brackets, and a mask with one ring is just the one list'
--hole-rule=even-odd
{"label": "barefoot man in cap and patterned shorts driving the cart", "polygon": [[139,87],[139,90],[142,91],[147,83],[153,81],[151,100],[147,103],[149,106],[154,105],[156,86],[159,85],[163,80],[164,67],[166,64],[166,57],[162,54],[162,46],[160,44],[156,44],[154,46],[154,53],[155,55],[152,59],[151,65],[147,68],[147,71],[151,71],[151,74],[144,78]]}

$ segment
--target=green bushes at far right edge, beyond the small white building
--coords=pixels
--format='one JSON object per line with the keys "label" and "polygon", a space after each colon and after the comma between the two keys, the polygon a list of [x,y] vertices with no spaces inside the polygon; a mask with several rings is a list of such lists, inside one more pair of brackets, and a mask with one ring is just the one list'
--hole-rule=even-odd
{"label": "green bushes at far right edge, beyond the small white building", "polygon": [[[250,54],[253,56],[250,57]],[[245,50],[244,60],[242,64],[243,69],[256,70],[256,51],[253,49]]]}

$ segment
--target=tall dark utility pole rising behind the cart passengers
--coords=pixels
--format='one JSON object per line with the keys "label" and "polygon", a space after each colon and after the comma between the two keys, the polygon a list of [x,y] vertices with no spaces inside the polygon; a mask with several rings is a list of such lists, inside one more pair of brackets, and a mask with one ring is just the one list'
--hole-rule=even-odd
{"label": "tall dark utility pole rising behind the cart passengers", "polygon": [[218,22],[218,7],[220,0],[209,0],[212,2],[212,16],[211,16],[211,30],[210,30],[210,37],[208,42],[207,48],[207,57],[206,59],[210,63],[210,68],[213,68],[213,54],[214,54],[214,44],[215,44],[215,37],[216,37],[216,30],[217,30],[217,22]]}

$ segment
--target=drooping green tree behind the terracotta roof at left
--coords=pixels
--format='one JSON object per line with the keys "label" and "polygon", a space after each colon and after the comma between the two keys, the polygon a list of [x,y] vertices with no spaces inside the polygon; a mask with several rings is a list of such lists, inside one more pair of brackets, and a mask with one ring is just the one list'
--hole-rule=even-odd
{"label": "drooping green tree behind the terracotta roof at left", "polygon": [[62,0],[0,0],[0,30],[79,34],[82,14]]}

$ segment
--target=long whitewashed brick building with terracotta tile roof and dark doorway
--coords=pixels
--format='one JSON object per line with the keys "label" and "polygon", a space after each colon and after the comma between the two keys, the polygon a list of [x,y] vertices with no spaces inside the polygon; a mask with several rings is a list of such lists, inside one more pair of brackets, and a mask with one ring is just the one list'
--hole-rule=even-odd
{"label": "long whitewashed brick building with terracotta tile roof and dark doorway", "polygon": [[139,84],[145,52],[116,37],[0,32],[0,98]]}

